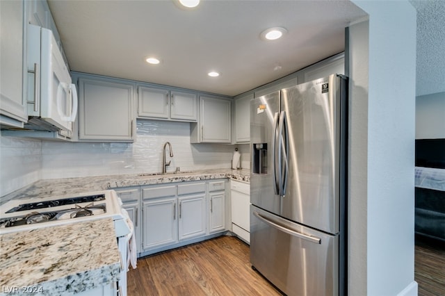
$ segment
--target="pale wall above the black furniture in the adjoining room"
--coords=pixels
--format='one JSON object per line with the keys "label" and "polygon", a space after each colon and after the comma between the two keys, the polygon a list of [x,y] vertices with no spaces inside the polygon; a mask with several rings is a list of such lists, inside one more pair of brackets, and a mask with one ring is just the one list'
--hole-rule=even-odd
{"label": "pale wall above the black furniture in the adjoining room", "polygon": [[445,92],[416,97],[416,139],[444,138]]}

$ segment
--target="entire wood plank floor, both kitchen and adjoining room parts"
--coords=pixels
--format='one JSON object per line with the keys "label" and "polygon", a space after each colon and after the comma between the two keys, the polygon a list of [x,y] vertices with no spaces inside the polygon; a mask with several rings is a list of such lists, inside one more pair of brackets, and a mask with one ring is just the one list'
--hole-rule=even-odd
{"label": "entire wood plank floor, both kitchen and adjoining room parts", "polygon": [[[445,243],[416,238],[414,280],[419,296],[445,295]],[[249,247],[220,236],[138,259],[128,272],[128,295],[281,295],[254,272]]]}

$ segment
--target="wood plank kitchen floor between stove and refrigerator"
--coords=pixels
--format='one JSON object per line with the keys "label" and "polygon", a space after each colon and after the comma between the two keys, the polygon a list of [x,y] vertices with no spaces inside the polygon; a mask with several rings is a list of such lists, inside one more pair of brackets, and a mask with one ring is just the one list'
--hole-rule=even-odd
{"label": "wood plank kitchen floor between stove and refrigerator", "polygon": [[281,295],[252,270],[249,247],[220,236],[138,260],[128,272],[128,295]]}

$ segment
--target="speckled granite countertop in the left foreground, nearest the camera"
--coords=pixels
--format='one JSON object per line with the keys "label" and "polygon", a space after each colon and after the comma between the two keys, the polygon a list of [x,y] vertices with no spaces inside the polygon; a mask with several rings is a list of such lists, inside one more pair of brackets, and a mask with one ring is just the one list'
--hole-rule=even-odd
{"label": "speckled granite countertop in the left foreground, nearest the camera", "polygon": [[117,281],[119,272],[111,218],[0,235],[0,295],[71,295]]}

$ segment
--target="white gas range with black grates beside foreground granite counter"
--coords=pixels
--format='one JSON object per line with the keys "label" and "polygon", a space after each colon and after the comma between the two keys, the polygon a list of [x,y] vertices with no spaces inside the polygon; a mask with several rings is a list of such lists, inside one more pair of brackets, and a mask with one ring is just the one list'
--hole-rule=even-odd
{"label": "white gas range with black grates beside foreground granite counter", "polygon": [[[127,262],[131,255],[129,254],[129,240],[134,235],[134,227],[114,190],[13,199],[0,205],[0,234],[104,217],[113,218],[121,260],[120,280],[115,289],[119,290],[119,295],[125,296],[127,295]],[[91,295],[91,291],[86,291],[85,295]]]}

